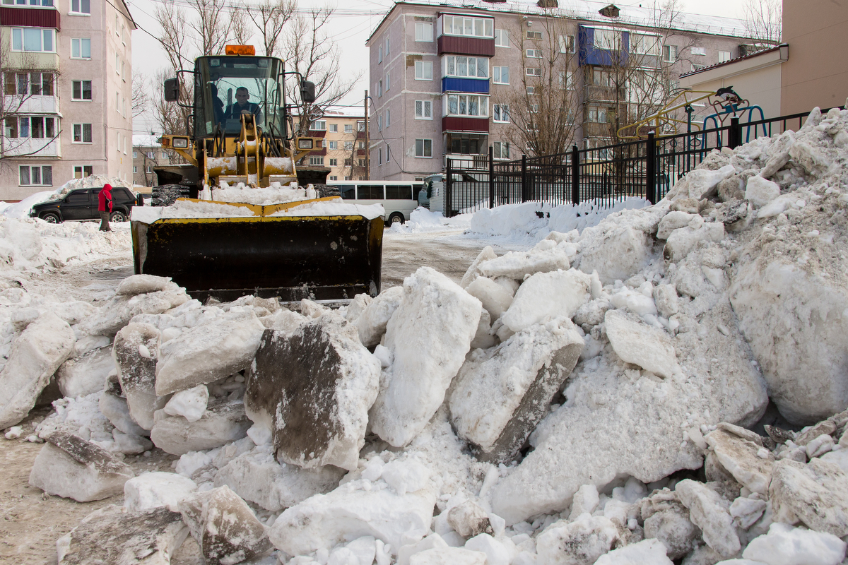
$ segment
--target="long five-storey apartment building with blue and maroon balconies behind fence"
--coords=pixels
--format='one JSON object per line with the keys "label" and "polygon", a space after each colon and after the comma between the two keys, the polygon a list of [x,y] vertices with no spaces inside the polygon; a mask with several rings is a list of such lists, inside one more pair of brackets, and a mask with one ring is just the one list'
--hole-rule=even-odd
{"label": "long five-storey apartment building with blue and maroon balconies behind fence", "polygon": [[527,132],[555,139],[545,154],[610,144],[683,72],[744,45],[737,19],[586,0],[395,3],[367,41],[371,179],[421,179],[446,157],[483,163],[489,147],[532,155]]}

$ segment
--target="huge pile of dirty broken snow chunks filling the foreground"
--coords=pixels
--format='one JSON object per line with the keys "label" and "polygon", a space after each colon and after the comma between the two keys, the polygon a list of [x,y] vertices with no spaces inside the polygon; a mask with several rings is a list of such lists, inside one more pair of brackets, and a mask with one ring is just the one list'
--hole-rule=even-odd
{"label": "huge pile of dirty broken snow chunks filling the foreground", "polygon": [[[848,111],[814,111],[582,230],[477,213],[546,235],[338,310],[137,276],[93,311],[0,291],[4,425],[54,372],[102,375],[112,344],[103,390],[40,426],[31,483],[122,486],[126,507],[85,518],[59,563],[144,527],[164,562],[192,535],[207,562],[838,565],[846,166]],[[181,478],[121,463],[151,445]]]}

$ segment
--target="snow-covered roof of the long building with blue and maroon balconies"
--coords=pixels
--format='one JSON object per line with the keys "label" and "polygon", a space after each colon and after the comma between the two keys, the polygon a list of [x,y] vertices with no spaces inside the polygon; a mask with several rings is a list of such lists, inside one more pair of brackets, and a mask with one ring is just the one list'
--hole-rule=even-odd
{"label": "snow-covered roof of the long building with blue and maroon balconies", "polygon": [[[667,17],[661,17],[659,10],[653,8],[642,8],[640,6],[624,6],[617,18],[607,18],[599,13],[599,10],[610,6],[608,2],[595,2],[594,0],[559,0],[559,8],[539,8],[535,0],[515,0],[509,2],[486,2],[485,0],[411,0],[409,2],[396,2],[388,10],[386,15],[371,31],[368,41],[377,33],[382,23],[392,13],[395,6],[399,4],[430,6],[442,8],[443,11],[463,9],[481,9],[488,12],[505,12],[514,14],[555,15],[563,18],[582,19],[593,24],[615,23],[618,25],[633,25],[639,27],[669,27],[680,31],[694,31],[714,36],[748,36],[745,20],[736,18],[724,18],[722,16],[711,16],[704,14],[686,14],[680,12],[675,15],[672,25],[668,25]],[[665,21],[665,24],[661,24]]]}

